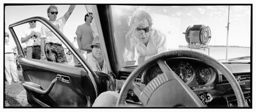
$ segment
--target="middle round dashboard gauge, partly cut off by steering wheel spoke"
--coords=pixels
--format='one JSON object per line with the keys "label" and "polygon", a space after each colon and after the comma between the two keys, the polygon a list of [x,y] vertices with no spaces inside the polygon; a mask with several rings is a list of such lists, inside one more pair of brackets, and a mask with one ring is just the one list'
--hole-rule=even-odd
{"label": "middle round dashboard gauge, partly cut off by steering wheel spoke", "polygon": [[178,64],[172,69],[185,83],[187,83],[192,75],[190,67],[185,64]]}

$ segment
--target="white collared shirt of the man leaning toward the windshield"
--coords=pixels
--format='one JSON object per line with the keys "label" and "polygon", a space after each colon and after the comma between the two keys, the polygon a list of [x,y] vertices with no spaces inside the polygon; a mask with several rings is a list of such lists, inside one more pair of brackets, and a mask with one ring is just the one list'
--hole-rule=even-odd
{"label": "white collared shirt of the man leaning toward the windshield", "polygon": [[[168,51],[166,46],[166,36],[162,32],[152,29],[148,44],[145,46],[137,37],[131,38],[134,51],[125,51],[126,61],[138,60],[140,56],[145,56],[145,60],[154,57],[156,54]],[[134,53],[133,53],[134,52]]]}

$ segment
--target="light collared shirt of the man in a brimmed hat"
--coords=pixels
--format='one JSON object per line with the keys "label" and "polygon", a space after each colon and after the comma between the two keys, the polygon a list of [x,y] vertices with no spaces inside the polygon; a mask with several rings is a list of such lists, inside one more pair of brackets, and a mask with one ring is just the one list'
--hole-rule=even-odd
{"label": "light collared shirt of the man in a brimmed hat", "polygon": [[104,72],[104,73],[108,74],[108,69],[106,67],[105,61],[103,61],[103,67],[101,69],[98,62],[93,57],[92,52],[87,54],[87,62],[91,65],[91,67],[93,68],[94,71]]}

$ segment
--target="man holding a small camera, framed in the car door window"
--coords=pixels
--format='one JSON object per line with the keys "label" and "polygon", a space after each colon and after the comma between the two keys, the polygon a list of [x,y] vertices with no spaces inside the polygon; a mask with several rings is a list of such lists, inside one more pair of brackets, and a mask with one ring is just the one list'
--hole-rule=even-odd
{"label": "man holding a small camera, framed in the car door window", "polygon": [[22,43],[26,43],[26,57],[41,59],[40,30],[36,29],[36,21],[29,22],[30,27],[23,32]]}

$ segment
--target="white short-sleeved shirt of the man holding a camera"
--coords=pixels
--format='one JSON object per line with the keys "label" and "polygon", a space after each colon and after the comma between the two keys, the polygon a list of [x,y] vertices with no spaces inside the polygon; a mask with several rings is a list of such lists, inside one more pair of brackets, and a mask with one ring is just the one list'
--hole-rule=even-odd
{"label": "white short-sleeved shirt of the man holding a camera", "polygon": [[23,31],[22,38],[26,38],[28,35],[31,34],[32,31],[37,33],[37,38],[30,38],[27,42],[25,42],[26,46],[40,45],[40,30],[37,29],[36,27],[29,27],[28,29],[25,29],[25,31]]}

